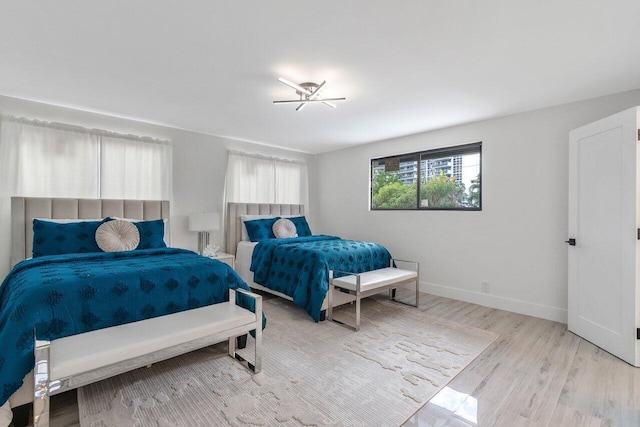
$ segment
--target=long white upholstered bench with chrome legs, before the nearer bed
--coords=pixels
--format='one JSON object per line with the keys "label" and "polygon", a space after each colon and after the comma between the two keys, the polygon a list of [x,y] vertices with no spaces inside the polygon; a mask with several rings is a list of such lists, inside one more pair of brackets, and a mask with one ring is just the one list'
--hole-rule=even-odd
{"label": "long white upholstered bench with chrome legs, before the nearer bed", "polygon": [[[34,427],[49,425],[49,396],[133,369],[188,353],[225,340],[229,356],[255,373],[262,367],[262,297],[255,313],[229,301],[152,319],[72,335],[53,341],[36,339],[34,367]],[[255,330],[253,363],[236,353],[236,337]]]}

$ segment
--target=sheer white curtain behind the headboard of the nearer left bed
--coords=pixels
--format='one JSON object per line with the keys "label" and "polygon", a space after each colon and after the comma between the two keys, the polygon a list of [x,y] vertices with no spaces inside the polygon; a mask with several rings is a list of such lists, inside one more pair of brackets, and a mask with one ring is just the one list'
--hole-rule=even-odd
{"label": "sheer white curtain behind the headboard of the nearer left bed", "polygon": [[0,277],[9,271],[11,197],[171,197],[171,143],[0,116]]}

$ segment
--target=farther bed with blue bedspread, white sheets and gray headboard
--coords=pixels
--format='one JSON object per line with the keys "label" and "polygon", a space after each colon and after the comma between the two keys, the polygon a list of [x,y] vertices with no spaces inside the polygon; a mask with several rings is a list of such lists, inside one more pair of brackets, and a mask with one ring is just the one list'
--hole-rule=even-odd
{"label": "farther bed with blue bedspread, white sheets and gray headboard", "polygon": [[[302,216],[303,205],[229,203],[227,252],[236,256],[236,270],[251,288],[292,300],[319,321],[325,318],[333,270],[361,273],[388,267],[391,255],[377,243],[335,236],[301,235],[252,242],[243,230],[243,220]],[[338,306],[354,299],[334,291],[332,304]]]}

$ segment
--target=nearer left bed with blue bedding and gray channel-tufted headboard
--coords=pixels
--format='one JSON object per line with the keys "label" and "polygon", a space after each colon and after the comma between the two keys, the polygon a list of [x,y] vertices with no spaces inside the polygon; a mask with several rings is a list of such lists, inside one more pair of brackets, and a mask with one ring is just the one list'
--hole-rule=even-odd
{"label": "nearer left bed with blue bedding and gray channel-tufted headboard", "polygon": [[[67,213],[69,206],[71,214]],[[141,244],[132,251],[96,252],[89,247],[87,242],[91,243],[93,236],[88,239],[87,224],[78,222],[91,220],[60,220],[64,227],[48,223],[46,227],[56,231],[78,232],[73,237],[55,232],[43,239],[36,216],[78,218],[81,213],[73,216],[75,209],[89,218],[105,213],[137,218],[168,216],[164,201],[12,198],[12,259],[17,264],[0,285],[0,406],[10,397],[11,406],[30,401],[28,388],[21,386],[34,366],[36,336],[54,340],[82,334],[225,302],[229,289],[249,290],[229,265],[166,247],[166,221],[163,224],[162,219],[140,220],[136,227]],[[153,233],[150,227],[155,229]],[[142,246],[143,242],[151,244]],[[60,245],[75,253],[55,254]],[[32,251],[34,258],[20,261]],[[253,311],[250,298],[236,294],[236,301]]]}

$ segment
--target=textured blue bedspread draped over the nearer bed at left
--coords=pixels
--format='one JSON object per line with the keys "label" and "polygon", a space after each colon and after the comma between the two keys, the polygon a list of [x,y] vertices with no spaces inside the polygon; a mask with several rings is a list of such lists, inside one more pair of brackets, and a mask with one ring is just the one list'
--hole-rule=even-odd
{"label": "textured blue bedspread draped over the nearer bed at left", "polygon": [[227,264],[183,249],[22,261],[0,287],[0,405],[33,368],[34,328],[52,340],[228,301],[229,288],[249,289]]}

